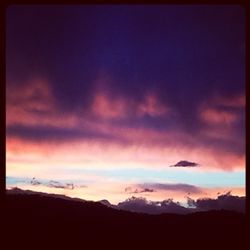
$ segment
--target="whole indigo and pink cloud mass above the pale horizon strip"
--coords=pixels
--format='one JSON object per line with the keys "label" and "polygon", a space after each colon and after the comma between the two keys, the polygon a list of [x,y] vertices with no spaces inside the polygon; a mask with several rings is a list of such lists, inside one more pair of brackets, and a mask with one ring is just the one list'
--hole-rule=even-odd
{"label": "whole indigo and pink cloud mass above the pale horizon strip", "polygon": [[[144,162],[151,158],[169,165],[160,153],[165,151],[174,158],[193,154],[204,167],[244,168],[244,14],[229,7],[220,14],[209,8],[184,13],[179,8],[151,12],[125,7],[122,17],[116,7],[109,11],[111,19],[87,6],[56,13],[47,7],[9,9],[7,141],[19,137],[21,150],[27,141],[48,151],[52,141],[56,150],[68,144],[70,154],[76,148],[72,141],[91,141],[104,154],[114,142],[147,148],[139,153]],[[214,23],[217,29],[200,29]],[[218,36],[218,30],[225,32]],[[116,155],[127,150],[116,146]],[[156,148],[157,153],[150,153]],[[128,158],[136,161],[137,153],[131,150]]]}

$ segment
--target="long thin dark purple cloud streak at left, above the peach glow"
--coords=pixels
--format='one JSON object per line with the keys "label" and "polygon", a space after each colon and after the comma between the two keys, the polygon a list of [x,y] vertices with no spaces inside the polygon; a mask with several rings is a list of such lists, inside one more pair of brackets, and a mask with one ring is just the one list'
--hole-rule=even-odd
{"label": "long thin dark purple cloud streak at left, above the peach glow", "polygon": [[[55,128],[50,126],[11,125],[6,128],[7,136],[18,137],[31,141],[71,141],[71,140],[107,140],[115,141],[117,137],[91,129],[78,130],[69,128]],[[121,142],[122,139],[119,138]]]}

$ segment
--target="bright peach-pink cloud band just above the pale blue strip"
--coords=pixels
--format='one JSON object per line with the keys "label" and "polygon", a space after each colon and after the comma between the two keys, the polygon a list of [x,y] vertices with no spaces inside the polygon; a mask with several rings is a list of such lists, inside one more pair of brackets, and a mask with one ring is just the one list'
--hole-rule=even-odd
{"label": "bright peach-pink cloud band just above the pale blue strip", "polygon": [[[150,139],[143,133],[140,137],[137,136],[133,143],[125,145],[117,144],[115,141],[106,143],[97,140],[36,143],[7,137],[7,162],[17,165],[19,160],[20,164],[25,164],[25,160],[29,162],[29,159],[33,159],[34,165],[39,162],[44,165],[44,169],[60,162],[67,166],[87,164],[89,167],[103,169],[119,167],[157,169],[168,168],[173,162],[187,159],[198,162],[201,166],[200,171],[245,169],[244,156],[214,150],[206,146],[189,147],[189,144],[174,143],[176,138],[171,135],[169,135],[169,143],[165,145],[155,142],[153,138],[150,142]],[[158,140],[163,138],[160,134],[158,137]]]}

